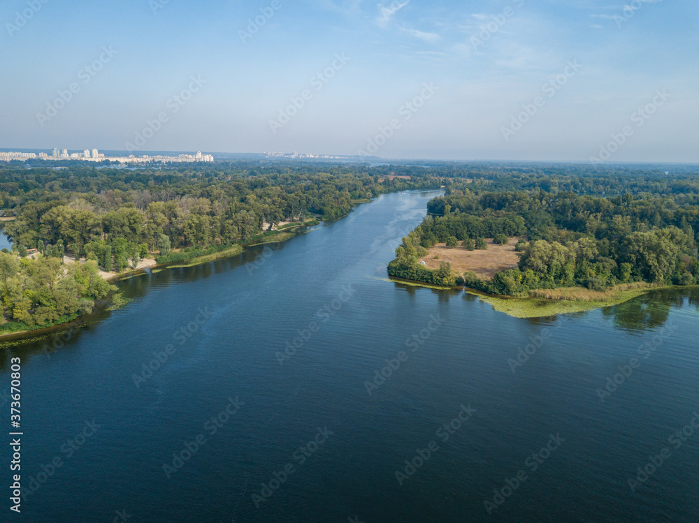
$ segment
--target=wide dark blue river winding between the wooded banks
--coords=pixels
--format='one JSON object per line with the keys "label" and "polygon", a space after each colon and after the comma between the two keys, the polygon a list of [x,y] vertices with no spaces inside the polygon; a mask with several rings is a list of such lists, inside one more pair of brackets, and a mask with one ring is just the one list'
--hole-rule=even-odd
{"label": "wide dark blue river winding between the wooded banks", "polygon": [[65,342],[3,344],[38,487],[17,521],[697,521],[699,293],[522,320],[387,281],[436,194],[122,281],[131,302]]}

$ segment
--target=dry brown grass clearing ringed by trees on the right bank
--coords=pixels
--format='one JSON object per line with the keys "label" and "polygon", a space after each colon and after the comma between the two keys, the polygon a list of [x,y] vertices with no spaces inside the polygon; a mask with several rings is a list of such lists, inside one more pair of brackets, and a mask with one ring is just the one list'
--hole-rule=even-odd
{"label": "dry brown grass clearing ringed by trees on the right bank", "polygon": [[[511,237],[507,245],[496,245],[490,238],[485,241],[488,244],[485,251],[467,251],[461,245],[448,249],[440,243],[428,249],[427,255],[421,260],[428,269],[438,269],[440,262],[447,261],[452,264],[452,270],[459,274],[474,271],[480,278],[491,279],[496,272],[517,267],[519,256],[514,252],[517,240],[518,237]],[[435,260],[435,256],[439,256],[439,259]]]}

